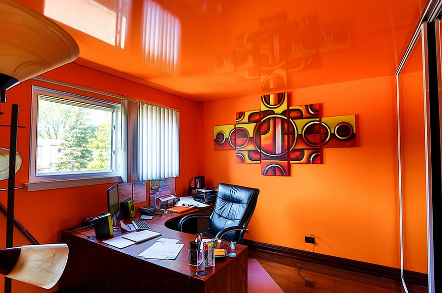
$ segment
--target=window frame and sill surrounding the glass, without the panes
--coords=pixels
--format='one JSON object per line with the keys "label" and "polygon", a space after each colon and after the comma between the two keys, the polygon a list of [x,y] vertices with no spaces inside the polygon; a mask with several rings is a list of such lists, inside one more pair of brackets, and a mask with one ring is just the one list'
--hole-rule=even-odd
{"label": "window frame and sill surrounding the glass, without the panes", "polygon": [[84,171],[84,172],[72,172],[64,174],[36,174],[36,163],[37,163],[37,136],[38,136],[38,97],[49,97],[51,99],[62,99],[68,100],[72,104],[87,104],[91,107],[107,108],[113,111],[120,111],[121,115],[121,105],[98,100],[94,98],[89,98],[81,96],[78,94],[62,92],[59,90],[41,88],[37,86],[32,86],[32,110],[31,110],[31,132],[30,132],[30,147],[29,147],[29,182],[25,183],[28,187],[28,191],[35,190],[47,190],[55,188],[68,188],[75,186],[93,185],[93,184],[104,184],[121,181],[121,170],[118,170],[117,155],[118,150],[118,119],[112,115],[113,119],[113,135],[112,135],[112,149],[114,154],[111,156],[113,170],[109,172],[103,171]]}

